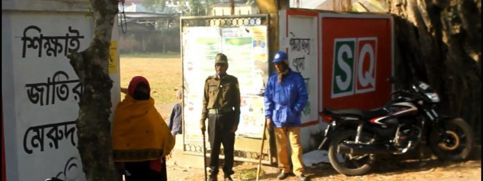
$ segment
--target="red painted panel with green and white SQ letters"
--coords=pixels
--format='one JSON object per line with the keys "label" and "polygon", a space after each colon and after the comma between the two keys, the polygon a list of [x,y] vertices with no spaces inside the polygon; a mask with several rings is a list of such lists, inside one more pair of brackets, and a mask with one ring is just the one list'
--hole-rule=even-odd
{"label": "red painted panel with green and white SQ letters", "polygon": [[382,106],[391,96],[391,18],[321,14],[322,106]]}

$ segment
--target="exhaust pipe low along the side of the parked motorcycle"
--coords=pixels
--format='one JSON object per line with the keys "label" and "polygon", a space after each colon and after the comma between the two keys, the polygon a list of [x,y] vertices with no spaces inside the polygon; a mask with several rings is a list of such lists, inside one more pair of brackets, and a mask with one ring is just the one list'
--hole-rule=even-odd
{"label": "exhaust pipe low along the side of the parked motorcycle", "polygon": [[364,154],[391,154],[392,151],[383,147],[370,144],[346,144],[341,143],[337,147],[339,154],[364,155]]}

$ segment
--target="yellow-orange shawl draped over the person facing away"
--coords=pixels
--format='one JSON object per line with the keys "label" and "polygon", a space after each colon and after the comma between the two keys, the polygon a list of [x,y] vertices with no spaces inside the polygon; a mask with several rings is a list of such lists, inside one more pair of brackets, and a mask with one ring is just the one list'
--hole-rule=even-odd
{"label": "yellow-orange shawl draped over the person facing away", "polygon": [[175,140],[154,106],[154,99],[126,95],[117,104],[112,126],[114,162],[158,160],[168,155]]}

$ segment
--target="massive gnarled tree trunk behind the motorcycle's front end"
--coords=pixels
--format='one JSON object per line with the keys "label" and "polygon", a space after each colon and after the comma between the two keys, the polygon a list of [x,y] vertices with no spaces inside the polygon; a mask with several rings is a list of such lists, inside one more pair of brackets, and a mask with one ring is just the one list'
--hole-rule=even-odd
{"label": "massive gnarled tree trunk behind the motorcycle's front end", "polygon": [[428,82],[440,113],[463,117],[481,139],[481,1],[387,0],[395,20],[396,76]]}

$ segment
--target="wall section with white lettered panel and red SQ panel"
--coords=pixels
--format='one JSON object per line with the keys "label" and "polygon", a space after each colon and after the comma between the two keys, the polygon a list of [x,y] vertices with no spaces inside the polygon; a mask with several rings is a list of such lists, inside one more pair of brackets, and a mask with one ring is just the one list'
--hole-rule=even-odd
{"label": "wall section with white lettered panel and red SQ panel", "polygon": [[308,151],[326,126],[319,117],[323,108],[371,109],[391,98],[386,79],[393,75],[393,19],[301,9],[279,14],[280,50],[309,91],[300,135]]}

